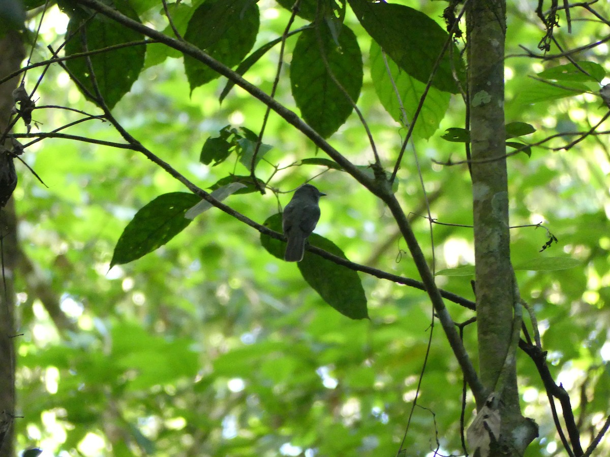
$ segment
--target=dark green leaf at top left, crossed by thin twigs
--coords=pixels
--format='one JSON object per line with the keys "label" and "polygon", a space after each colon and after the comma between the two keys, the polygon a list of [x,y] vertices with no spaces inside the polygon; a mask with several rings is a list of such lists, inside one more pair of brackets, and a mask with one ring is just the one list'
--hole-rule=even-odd
{"label": "dark green leaf at top left, crossed by thin twigs", "polygon": [[[114,7],[129,18],[140,21],[129,2],[119,1]],[[70,22],[66,30],[66,39],[68,39],[65,46],[66,57],[84,52],[85,49],[94,51],[95,49],[144,39],[142,34],[134,32],[134,30],[118,24],[104,15],[98,14],[88,18],[83,15],[82,10],[66,10],[66,12],[70,15]],[[83,22],[85,24],[81,28]],[[132,84],[138,79],[144,66],[145,52],[145,46],[140,44],[90,56],[99,92],[109,108],[112,109],[131,90]],[[96,96],[85,58],[67,60],[66,66],[74,77],[93,96]],[[86,96],[85,92],[84,94]]]}

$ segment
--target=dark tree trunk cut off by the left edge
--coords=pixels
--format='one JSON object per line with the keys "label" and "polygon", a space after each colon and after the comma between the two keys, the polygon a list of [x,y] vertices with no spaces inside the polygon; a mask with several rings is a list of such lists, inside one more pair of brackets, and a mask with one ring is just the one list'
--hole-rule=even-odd
{"label": "dark tree trunk cut off by the left edge", "polygon": [[[0,79],[18,70],[24,51],[21,38],[16,32],[7,32],[0,39]],[[18,78],[0,85],[0,132],[8,126],[13,107],[12,92]],[[7,141],[7,147],[9,142]],[[15,416],[15,330],[13,314],[15,291],[13,288],[13,268],[16,264],[16,224],[13,199],[0,210],[0,236],[2,236],[2,257],[4,258],[5,282],[0,287],[0,457],[14,455]],[[1,275],[1,272],[0,272]],[[1,278],[1,276],[0,276]],[[4,285],[6,288],[4,288]]]}

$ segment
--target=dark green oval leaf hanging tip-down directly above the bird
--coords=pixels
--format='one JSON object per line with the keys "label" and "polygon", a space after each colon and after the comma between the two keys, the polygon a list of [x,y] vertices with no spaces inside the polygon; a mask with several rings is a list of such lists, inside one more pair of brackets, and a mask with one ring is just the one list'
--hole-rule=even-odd
{"label": "dark green oval leaf hanging tip-down directly above the bird", "polygon": [[356,36],[346,26],[341,29],[339,44],[340,48],[326,26],[318,24],[315,29],[304,30],[296,41],[290,66],[290,82],[296,105],[307,124],[324,138],[343,125],[353,106],[332,80],[323,55],[332,74],[352,101],[357,101],[362,88],[362,55]]}

